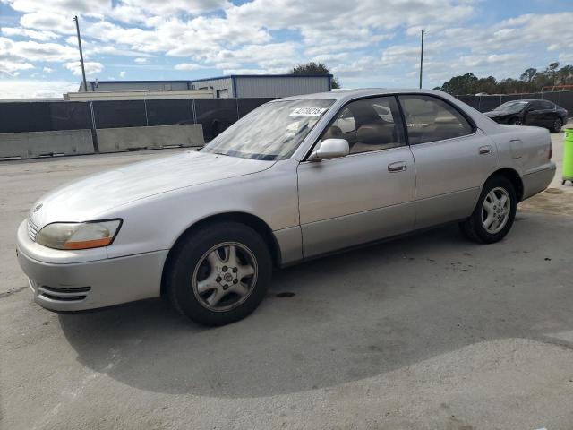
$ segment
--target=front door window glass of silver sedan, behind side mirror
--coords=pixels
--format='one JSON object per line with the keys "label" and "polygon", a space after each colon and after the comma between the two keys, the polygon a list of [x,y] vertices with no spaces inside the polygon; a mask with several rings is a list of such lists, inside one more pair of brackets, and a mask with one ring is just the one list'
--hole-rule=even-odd
{"label": "front door window glass of silver sedan, behind side mirror", "polygon": [[360,99],[343,107],[321,135],[346,139],[350,153],[387,150],[404,146],[406,140],[394,96]]}

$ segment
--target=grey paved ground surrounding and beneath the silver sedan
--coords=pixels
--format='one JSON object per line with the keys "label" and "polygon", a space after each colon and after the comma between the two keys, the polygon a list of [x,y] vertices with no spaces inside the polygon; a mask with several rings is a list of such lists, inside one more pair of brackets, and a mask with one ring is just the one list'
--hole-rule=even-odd
{"label": "grey paved ground surrounding and beneath the silver sedan", "polygon": [[573,428],[573,187],[560,169],[498,244],[449,226],[306,262],[226,327],[161,299],[88,314],[31,302],[14,236],[32,202],[174,151],[0,164],[2,429]]}

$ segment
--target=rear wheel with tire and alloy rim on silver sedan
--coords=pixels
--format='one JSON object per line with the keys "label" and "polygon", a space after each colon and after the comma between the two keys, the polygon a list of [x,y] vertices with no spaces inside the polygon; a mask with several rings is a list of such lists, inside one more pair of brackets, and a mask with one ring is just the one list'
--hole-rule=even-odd
{"label": "rear wheel with tire and alloy rim on silver sedan", "polygon": [[[497,202],[492,200],[492,195]],[[509,233],[516,218],[516,211],[517,193],[511,181],[505,176],[492,176],[483,185],[474,213],[461,222],[459,227],[467,238],[480,244],[492,244]],[[487,228],[486,225],[490,221],[491,225]]]}

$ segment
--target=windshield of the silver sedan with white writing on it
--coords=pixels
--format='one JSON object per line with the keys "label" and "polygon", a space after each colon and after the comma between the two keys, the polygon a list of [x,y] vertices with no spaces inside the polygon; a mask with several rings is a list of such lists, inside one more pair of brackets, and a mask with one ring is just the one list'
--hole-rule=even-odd
{"label": "windshield of the silver sedan with white writing on it", "polygon": [[201,152],[244,159],[286,159],[333,103],[333,99],[266,103],[219,134]]}

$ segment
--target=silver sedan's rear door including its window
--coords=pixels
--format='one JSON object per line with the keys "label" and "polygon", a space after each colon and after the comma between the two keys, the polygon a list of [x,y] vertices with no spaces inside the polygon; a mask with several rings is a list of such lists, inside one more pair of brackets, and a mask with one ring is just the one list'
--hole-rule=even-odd
{"label": "silver sedan's rear door including its window", "polygon": [[398,99],[415,160],[415,228],[468,217],[496,166],[494,143],[444,99]]}

